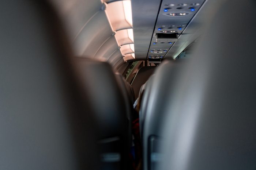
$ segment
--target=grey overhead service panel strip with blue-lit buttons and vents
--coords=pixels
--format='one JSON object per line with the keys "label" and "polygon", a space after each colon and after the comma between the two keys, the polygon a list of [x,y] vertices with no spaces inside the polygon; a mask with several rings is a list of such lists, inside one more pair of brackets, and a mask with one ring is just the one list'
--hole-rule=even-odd
{"label": "grey overhead service panel strip with blue-lit buttons and vents", "polygon": [[164,58],[172,46],[179,43],[182,32],[203,3],[204,0],[163,0],[147,59]]}

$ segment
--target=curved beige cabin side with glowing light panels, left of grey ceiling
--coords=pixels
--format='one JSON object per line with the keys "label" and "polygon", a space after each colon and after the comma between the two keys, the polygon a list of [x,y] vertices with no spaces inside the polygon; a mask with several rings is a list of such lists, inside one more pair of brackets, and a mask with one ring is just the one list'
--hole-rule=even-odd
{"label": "curved beige cabin side with glowing light panels, left of grey ceiling", "polygon": [[64,19],[76,56],[101,59],[116,68],[134,59],[125,58],[134,53],[131,0],[53,3]]}

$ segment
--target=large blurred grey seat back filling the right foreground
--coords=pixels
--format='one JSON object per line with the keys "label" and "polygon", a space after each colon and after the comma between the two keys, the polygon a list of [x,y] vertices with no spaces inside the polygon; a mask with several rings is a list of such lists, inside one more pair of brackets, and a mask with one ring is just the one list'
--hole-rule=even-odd
{"label": "large blurred grey seat back filling the right foreground", "polygon": [[[211,7],[212,8],[212,7]],[[225,1],[177,82],[163,135],[163,169],[255,169],[254,0]],[[248,28],[248,27],[247,27]]]}

